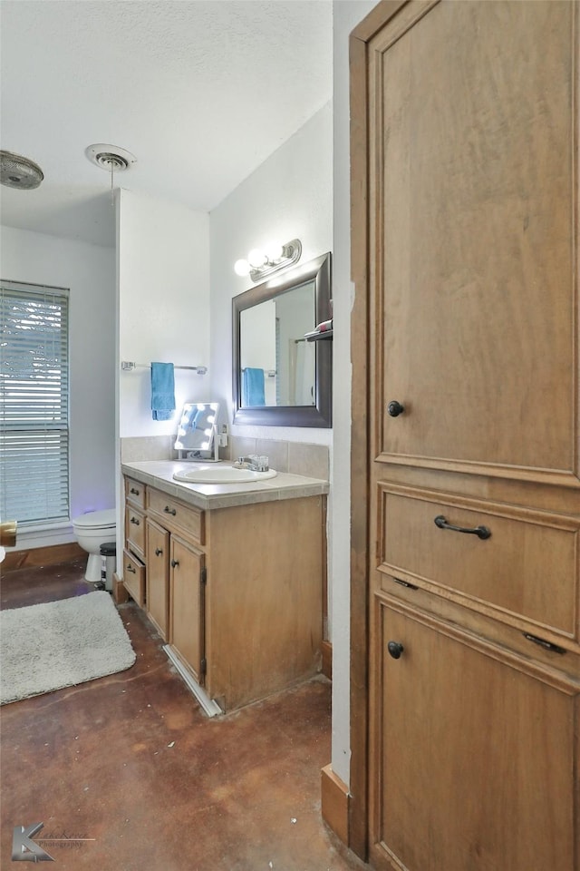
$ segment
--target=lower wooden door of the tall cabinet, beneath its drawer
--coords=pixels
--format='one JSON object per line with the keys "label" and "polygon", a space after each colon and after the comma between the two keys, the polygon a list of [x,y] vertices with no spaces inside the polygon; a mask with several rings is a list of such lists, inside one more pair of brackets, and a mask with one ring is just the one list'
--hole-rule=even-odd
{"label": "lower wooden door of the tall cabinet, beneath its drawer", "polygon": [[377,607],[374,858],[409,871],[573,871],[578,685]]}

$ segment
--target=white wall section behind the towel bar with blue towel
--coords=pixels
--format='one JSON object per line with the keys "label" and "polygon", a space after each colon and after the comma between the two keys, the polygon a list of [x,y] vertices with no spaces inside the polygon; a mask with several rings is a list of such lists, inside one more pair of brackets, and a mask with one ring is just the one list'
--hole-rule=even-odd
{"label": "white wall section behind the towel bar with blue towel", "polygon": [[151,361],[209,367],[209,219],[178,203],[119,191],[119,435],[177,432],[184,402],[213,399],[211,373],[175,370],[176,412],[153,420]]}

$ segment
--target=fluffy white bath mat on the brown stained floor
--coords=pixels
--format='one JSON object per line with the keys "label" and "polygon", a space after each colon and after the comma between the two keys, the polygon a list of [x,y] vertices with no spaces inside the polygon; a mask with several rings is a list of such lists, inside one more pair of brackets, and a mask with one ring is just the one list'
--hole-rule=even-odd
{"label": "fluffy white bath mat on the brown stained floor", "polygon": [[108,592],[0,612],[0,704],[102,678],[135,659]]}

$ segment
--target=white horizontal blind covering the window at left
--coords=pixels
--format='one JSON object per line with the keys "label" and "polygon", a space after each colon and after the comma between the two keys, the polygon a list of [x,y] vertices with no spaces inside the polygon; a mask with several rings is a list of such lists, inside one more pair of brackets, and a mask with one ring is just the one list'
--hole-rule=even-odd
{"label": "white horizontal blind covering the window at left", "polygon": [[0,516],[69,519],[69,292],[0,282]]}

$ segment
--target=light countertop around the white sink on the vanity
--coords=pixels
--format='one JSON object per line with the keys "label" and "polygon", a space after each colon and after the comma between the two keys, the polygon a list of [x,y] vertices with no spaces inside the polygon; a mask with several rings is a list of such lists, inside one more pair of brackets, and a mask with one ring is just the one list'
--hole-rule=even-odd
{"label": "light countertop around the white sink on the vanity", "polygon": [[[150,484],[176,499],[209,511],[212,508],[230,508],[234,505],[300,499],[329,491],[328,481],[305,475],[291,475],[288,472],[278,472],[274,478],[247,484],[185,484],[174,480],[174,472],[191,469],[194,465],[183,460],[143,460],[140,463],[123,463],[121,472],[141,484]],[[219,465],[233,464],[222,461]]]}

